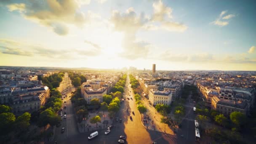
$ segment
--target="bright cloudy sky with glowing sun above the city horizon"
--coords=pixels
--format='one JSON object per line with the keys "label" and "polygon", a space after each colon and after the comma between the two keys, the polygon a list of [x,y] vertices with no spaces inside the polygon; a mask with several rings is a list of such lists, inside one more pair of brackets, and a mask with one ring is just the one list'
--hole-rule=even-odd
{"label": "bright cloudy sky with glowing sun above the city horizon", "polygon": [[255,0],[0,0],[0,65],[256,70]]}

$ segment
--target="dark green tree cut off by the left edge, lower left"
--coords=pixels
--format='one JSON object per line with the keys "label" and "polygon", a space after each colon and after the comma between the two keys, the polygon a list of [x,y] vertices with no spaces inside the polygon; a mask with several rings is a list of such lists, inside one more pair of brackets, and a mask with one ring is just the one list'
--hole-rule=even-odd
{"label": "dark green tree cut off by the left edge, lower left", "polygon": [[5,112],[0,114],[0,135],[4,133],[9,133],[13,130],[13,123],[16,117],[11,112]]}

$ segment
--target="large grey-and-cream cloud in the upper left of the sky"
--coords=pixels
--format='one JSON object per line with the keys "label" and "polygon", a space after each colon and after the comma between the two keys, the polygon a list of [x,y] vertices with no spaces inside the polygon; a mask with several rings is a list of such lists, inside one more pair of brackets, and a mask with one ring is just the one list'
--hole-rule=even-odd
{"label": "large grey-and-cream cloud in the upper left of the sky", "polygon": [[28,20],[50,27],[59,35],[68,33],[67,24],[83,27],[89,19],[80,11],[80,6],[90,3],[90,0],[24,0],[23,2],[10,3],[7,7],[9,11],[20,11]]}

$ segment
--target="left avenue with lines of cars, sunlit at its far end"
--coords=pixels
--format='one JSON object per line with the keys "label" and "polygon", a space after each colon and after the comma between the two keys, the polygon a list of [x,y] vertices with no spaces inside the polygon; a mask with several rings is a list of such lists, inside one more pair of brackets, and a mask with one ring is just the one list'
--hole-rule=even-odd
{"label": "left avenue with lines of cars, sunlit at its far end", "polygon": [[[72,86],[71,80],[69,79],[67,73],[65,73],[63,80],[62,80],[59,88],[57,88],[57,89],[63,95],[67,95],[67,97],[63,99],[63,104],[62,104],[63,117],[61,117],[61,119],[62,119],[61,126],[59,126],[58,128],[55,129],[54,138],[53,138],[54,141],[62,141],[62,140],[69,138],[70,136],[74,136],[79,133],[78,129],[77,129],[76,120],[75,120],[75,112],[74,112],[74,109],[72,107],[72,103],[71,103],[71,100],[69,97],[69,96],[71,96],[71,92],[75,91],[75,88]],[[66,103],[64,103],[64,101],[66,101]],[[65,109],[64,106],[67,106],[67,108]],[[67,118],[64,118],[65,110],[67,111]],[[64,133],[61,133],[61,128],[65,128]]]}

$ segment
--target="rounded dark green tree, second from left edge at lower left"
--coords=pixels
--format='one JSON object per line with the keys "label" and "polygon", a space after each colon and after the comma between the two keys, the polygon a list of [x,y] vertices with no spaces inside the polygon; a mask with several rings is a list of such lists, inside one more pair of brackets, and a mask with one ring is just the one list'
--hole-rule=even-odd
{"label": "rounded dark green tree, second from left edge at lower left", "polygon": [[31,117],[31,115],[29,112],[25,112],[21,116],[17,117],[17,119],[15,121],[16,130],[26,131],[30,125],[30,123],[29,123],[30,117]]}

